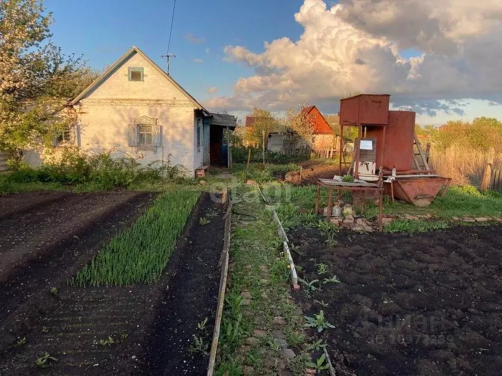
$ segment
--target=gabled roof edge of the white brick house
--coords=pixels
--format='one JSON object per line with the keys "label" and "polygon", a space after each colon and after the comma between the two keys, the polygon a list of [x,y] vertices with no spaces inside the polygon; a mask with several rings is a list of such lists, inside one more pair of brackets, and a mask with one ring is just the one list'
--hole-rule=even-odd
{"label": "gabled roof edge of the white brick house", "polygon": [[204,106],[202,106],[197,100],[192,97],[185,89],[181,87],[180,84],[178,84],[173,78],[168,75],[161,67],[159,67],[157,64],[155,64],[152,59],[150,59],[143,51],[141,51],[138,47],[133,46],[131,47],[125,54],[123,54],[115,63],[113,63],[107,70],[105,70],[101,76],[96,78],[94,82],[92,82],[89,86],[87,86],[84,91],[82,91],[79,95],[73,99],[70,104],[74,105],[77,104],[82,98],[84,98],[89,92],[94,90],[98,85],[103,83],[109,76],[110,74],[121,64],[123,64],[127,59],[129,59],[131,56],[134,54],[139,54],[143,59],[145,59],[147,62],[152,64],[152,66],[162,75],[164,76],[169,82],[171,82],[176,88],[178,88],[183,94],[185,94],[191,102],[194,104],[197,109],[201,110],[204,112],[205,115],[209,115],[209,111],[207,111]]}

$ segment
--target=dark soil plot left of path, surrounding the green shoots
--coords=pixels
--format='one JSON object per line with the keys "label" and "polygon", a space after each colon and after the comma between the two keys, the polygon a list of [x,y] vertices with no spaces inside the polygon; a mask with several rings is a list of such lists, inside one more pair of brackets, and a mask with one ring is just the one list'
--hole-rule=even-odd
{"label": "dark soil plot left of path, surrounding the green shoots", "polygon": [[[0,374],[203,373],[207,355],[188,347],[192,334],[210,343],[222,209],[208,195],[199,200],[157,284],[75,288],[67,286],[68,278],[141,216],[154,196],[52,195],[35,194],[33,205],[28,194],[22,204],[17,195],[0,198],[0,207],[12,213],[0,220]],[[209,215],[211,223],[200,225],[199,217]],[[204,317],[208,327],[198,331]],[[113,343],[104,343],[109,336]],[[35,360],[45,352],[58,360],[42,369]]]}

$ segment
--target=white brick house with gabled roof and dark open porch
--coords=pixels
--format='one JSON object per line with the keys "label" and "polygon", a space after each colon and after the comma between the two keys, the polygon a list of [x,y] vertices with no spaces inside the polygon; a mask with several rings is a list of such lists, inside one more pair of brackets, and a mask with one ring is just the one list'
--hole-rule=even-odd
{"label": "white brick house with gabled roof and dark open porch", "polygon": [[142,164],[170,156],[192,176],[210,162],[226,164],[223,131],[235,127],[233,116],[211,114],[137,47],[69,108],[77,115],[74,142],[82,149],[111,149],[114,156],[131,155]]}

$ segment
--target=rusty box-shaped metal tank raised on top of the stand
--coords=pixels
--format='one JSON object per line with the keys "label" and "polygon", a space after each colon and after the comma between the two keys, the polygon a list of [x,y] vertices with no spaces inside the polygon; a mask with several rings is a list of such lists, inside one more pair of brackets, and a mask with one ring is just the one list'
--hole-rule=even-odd
{"label": "rusty box-shaped metal tank raised on top of the stand", "polygon": [[340,100],[340,125],[389,122],[389,94],[360,94]]}

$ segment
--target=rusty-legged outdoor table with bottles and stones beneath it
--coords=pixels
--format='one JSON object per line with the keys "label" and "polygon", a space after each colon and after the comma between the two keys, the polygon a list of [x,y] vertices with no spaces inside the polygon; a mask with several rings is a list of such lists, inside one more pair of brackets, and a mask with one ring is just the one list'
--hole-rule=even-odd
{"label": "rusty-legged outdoor table with bottles and stones beneath it", "polygon": [[[381,173],[382,175],[382,173]],[[361,213],[364,213],[364,194],[365,192],[376,192],[378,195],[379,201],[379,216],[378,216],[378,224],[379,230],[382,231],[382,217],[383,217],[383,197],[384,197],[384,187],[383,187],[383,178],[379,177],[378,182],[376,183],[349,183],[345,181],[339,181],[334,179],[318,179],[317,180],[317,195],[315,199],[315,213],[319,211],[319,201],[321,197],[321,187],[326,188],[328,190],[328,211],[326,213],[326,221],[329,222],[331,217],[331,205],[332,205],[332,196],[333,191],[338,191],[338,196],[340,196],[341,191],[362,191],[362,201],[361,201]]]}

